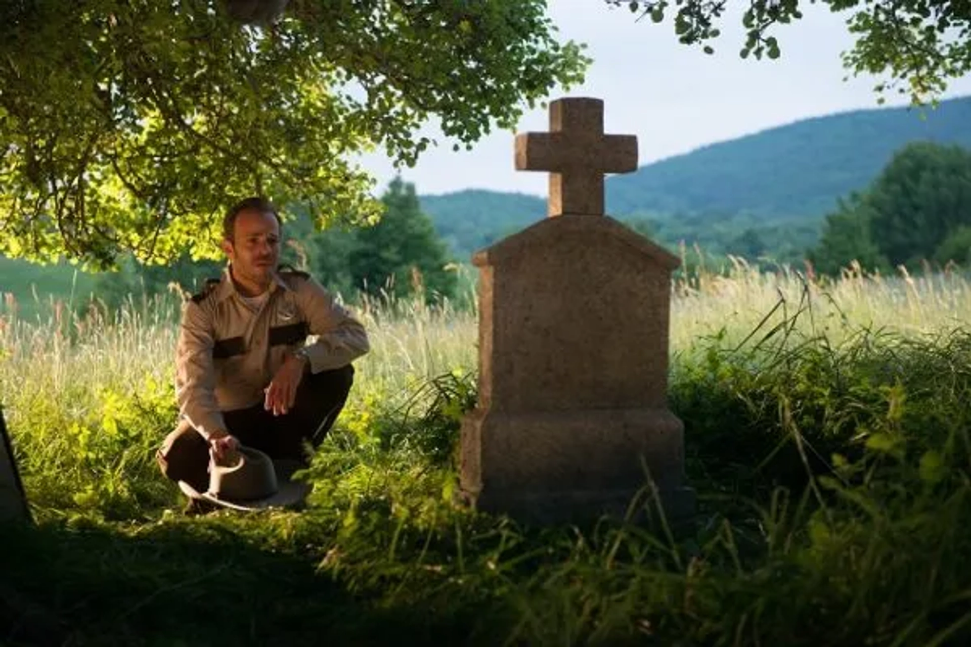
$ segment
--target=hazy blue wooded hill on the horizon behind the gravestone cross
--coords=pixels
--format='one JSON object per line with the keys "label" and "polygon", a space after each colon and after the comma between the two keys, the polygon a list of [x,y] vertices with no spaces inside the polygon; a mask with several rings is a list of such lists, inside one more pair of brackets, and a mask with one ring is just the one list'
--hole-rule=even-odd
{"label": "hazy blue wooded hill on the horizon behind the gravestone cross", "polygon": [[[895,150],[915,141],[971,147],[971,97],[923,116],[911,108],[836,113],[702,146],[608,178],[607,210],[640,221],[662,242],[786,256],[815,243],[837,198],[864,188]],[[521,193],[465,190],[420,200],[460,258],[546,213],[543,199]]]}

